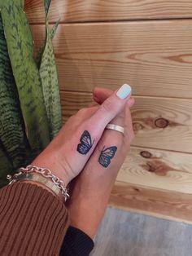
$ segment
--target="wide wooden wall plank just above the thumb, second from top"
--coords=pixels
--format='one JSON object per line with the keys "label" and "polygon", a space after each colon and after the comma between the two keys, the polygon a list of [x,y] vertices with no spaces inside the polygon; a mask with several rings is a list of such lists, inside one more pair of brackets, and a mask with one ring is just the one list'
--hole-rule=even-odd
{"label": "wide wooden wall plank just above the thumb, second from top", "polygon": [[[32,26],[36,50],[45,28]],[[61,24],[54,40],[62,90],[116,89],[192,99],[192,20]]]}

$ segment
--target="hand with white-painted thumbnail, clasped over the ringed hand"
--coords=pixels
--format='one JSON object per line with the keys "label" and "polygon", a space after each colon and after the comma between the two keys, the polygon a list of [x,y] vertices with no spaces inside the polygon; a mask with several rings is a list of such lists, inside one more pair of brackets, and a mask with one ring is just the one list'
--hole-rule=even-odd
{"label": "hand with white-painted thumbnail, clasped over the ringed hand", "polygon": [[[112,93],[99,107],[82,108],[69,118],[55,139],[41,152],[32,164],[50,169],[53,174],[62,179],[67,185],[83,170],[103,135],[103,130],[124,109],[130,95],[130,86],[124,85],[120,87],[120,90]],[[123,121],[121,120],[121,122]],[[105,131],[103,138],[106,138],[110,132],[109,130]],[[114,131],[111,135],[114,139],[115,137],[119,138],[122,136],[119,133],[115,135]],[[126,132],[124,136],[128,136]],[[98,148],[101,149],[103,144],[104,141],[102,139],[102,142],[98,144]],[[105,146],[108,147],[108,144],[106,143]],[[113,144],[117,145],[118,142],[114,140]],[[92,162],[96,161],[98,163],[98,159],[96,159],[99,157],[98,148],[94,152],[94,160]],[[118,153],[120,145],[117,145],[117,148]],[[98,167],[101,168],[101,166]]]}

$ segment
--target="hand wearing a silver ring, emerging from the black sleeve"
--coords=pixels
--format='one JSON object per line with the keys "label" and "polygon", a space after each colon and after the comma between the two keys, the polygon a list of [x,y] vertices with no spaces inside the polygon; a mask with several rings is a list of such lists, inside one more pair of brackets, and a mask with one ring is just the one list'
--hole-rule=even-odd
{"label": "hand wearing a silver ring, emerging from the black sleeve", "polygon": [[[94,99],[102,104],[111,94],[111,90],[96,88]],[[111,120],[111,123],[124,127],[124,135],[116,130],[105,130],[84,170],[72,184],[72,196],[68,201],[71,225],[92,238],[103,218],[116,175],[134,137],[129,111],[133,104],[134,100],[129,99],[125,108]],[[106,163],[105,152],[109,152],[106,148],[111,147],[116,148],[116,152]]]}

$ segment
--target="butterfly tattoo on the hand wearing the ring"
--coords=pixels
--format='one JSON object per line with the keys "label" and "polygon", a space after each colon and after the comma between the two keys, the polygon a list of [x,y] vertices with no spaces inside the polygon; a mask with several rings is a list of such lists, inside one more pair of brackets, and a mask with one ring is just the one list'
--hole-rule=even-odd
{"label": "butterfly tattoo on the hand wearing the ring", "polygon": [[104,148],[98,158],[98,162],[100,165],[107,168],[107,166],[109,166],[111,163],[112,157],[115,156],[117,148],[116,148],[116,146],[112,146],[112,147],[109,147],[106,149],[104,149]]}

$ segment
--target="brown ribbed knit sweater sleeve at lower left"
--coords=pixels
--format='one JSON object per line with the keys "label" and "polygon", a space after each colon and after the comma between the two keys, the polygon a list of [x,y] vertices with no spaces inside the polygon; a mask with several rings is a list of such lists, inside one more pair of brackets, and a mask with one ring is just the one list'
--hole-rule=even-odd
{"label": "brown ribbed knit sweater sleeve at lower left", "polygon": [[0,255],[59,255],[68,229],[62,201],[32,183],[0,190]]}

